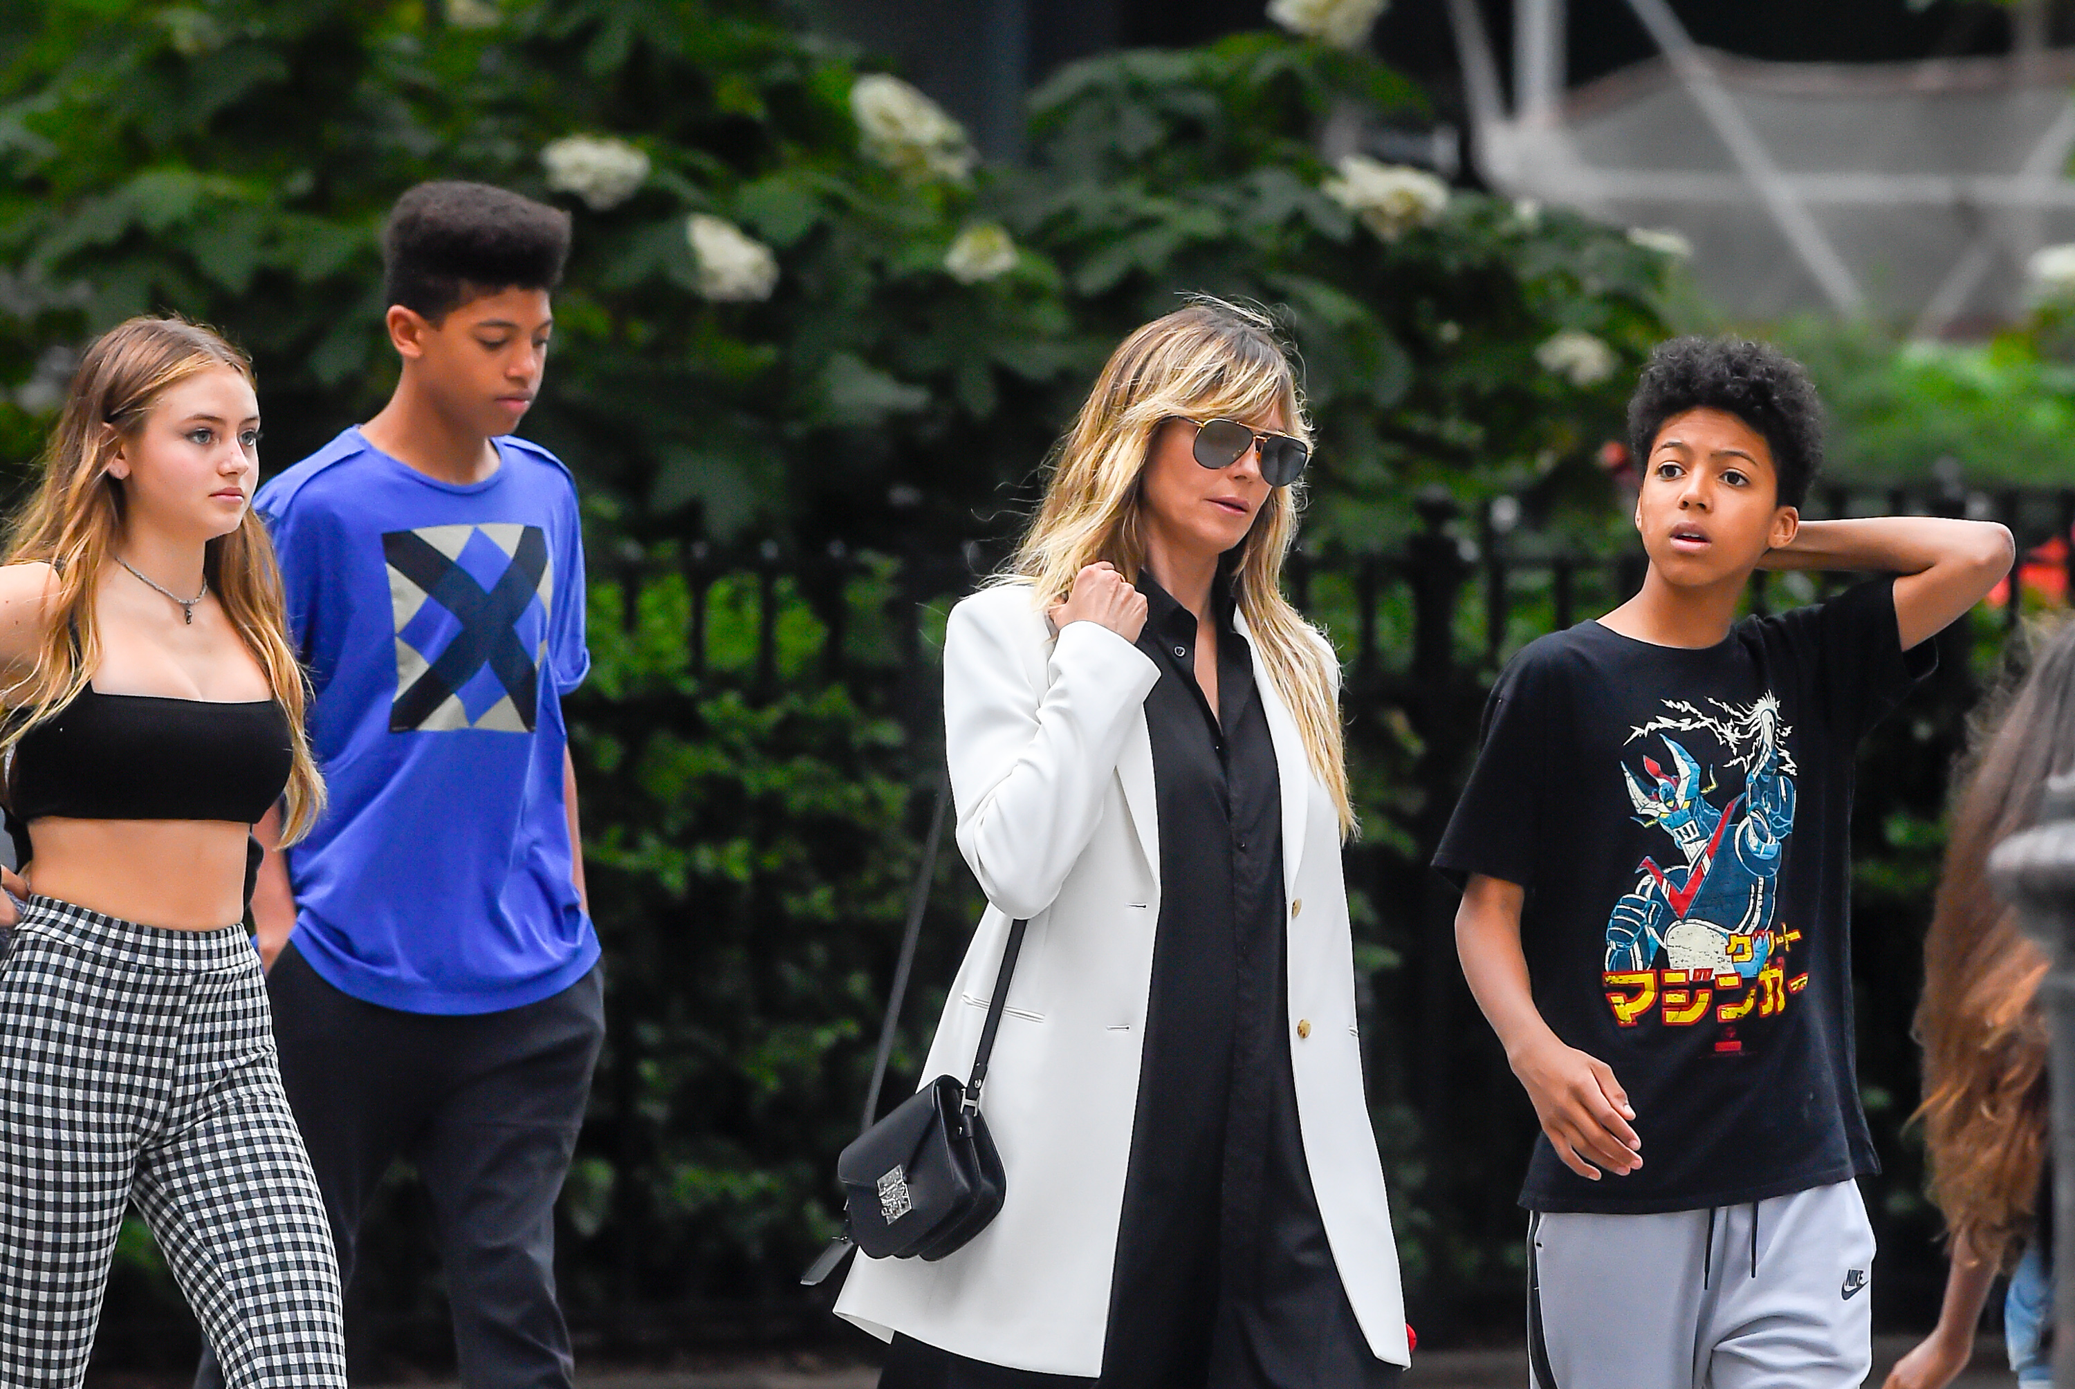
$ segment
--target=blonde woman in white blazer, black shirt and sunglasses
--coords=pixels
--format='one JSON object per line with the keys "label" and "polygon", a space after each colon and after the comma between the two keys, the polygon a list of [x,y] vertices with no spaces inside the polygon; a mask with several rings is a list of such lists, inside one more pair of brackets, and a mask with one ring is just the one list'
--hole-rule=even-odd
{"label": "blonde woman in white blazer, black shirt and sunglasses", "polygon": [[1289,355],[1199,301],[1131,334],[1002,583],[952,610],[944,736],[990,908],[925,1076],[986,1093],[1000,1217],[859,1260],[882,1389],[1349,1389],[1409,1360],[1361,1093],[1332,649],[1284,601]]}

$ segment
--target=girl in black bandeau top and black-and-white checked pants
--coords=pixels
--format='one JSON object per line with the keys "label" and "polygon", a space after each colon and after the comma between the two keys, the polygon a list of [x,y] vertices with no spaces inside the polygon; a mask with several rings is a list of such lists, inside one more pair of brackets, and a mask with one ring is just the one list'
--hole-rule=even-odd
{"label": "girl in black bandeau top and black-and-white checked pants", "polygon": [[322,784],[222,338],[131,319],[73,377],[0,566],[29,902],[0,962],[0,1381],[79,1385],[135,1200],[228,1381],[344,1389],[324,1204],[239,925],[249,827]]}

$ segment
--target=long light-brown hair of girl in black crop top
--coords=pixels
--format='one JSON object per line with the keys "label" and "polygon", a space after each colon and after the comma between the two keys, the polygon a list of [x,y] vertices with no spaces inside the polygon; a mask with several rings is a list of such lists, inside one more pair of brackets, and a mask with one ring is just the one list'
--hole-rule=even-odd
{"label": "long light-brown hair of girl in black crop top", "polygon": [[[93,680],[102,639],[93,593],[114,564],[127,500],[108,473],[122,442],[143,435],[160,396],[203,371],[228,367],[253,381],[251,361],[208,328],[176,317],[135,317],[110,328],[79,359],[64,413],[44,448],[44,479],[8,527],[8,564],[48,564],[54,593],[44,612],[35,668],[6,690],[0,757]],[[255,384],[257,386],[257,384]],[[303,668],[288,645],[280,568],[266,525],[245,510],[239,529],[208,543],[203,576],[230,626],[259,661],[293,730],[293,767],[282,844],[309,831],[324,806],[324,777],[303,734]]]}

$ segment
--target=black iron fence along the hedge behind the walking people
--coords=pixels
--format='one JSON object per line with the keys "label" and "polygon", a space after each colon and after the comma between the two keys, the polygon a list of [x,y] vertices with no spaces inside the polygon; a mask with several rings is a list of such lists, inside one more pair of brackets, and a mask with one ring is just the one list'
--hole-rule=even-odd
{"label": "black iron fence along the hedge behind the walking people", "polygon": [[[1807,510],[1994,516],[2036,551],[2017,599],[2004,597],[1975,614],[1969,630],[1942,639],[1944,676],[1870,750],[1861,775],[1857,850],[1863,862],[1901,864],[1894,873],[1903,883],[1888,891],[1880,879],[1870,889],[1861,873],[1857,910],[1861,1066],[1890,1165],[1886,1196],[1874,1202],[1884,1258],[1897,1265],[1884,1279],[1884,1310],[1928,1314],[1938,1279],[1932,1221],[1913,1204],[1917,1167],[1899,1134],[1915,1093],[1911,933],[1921,931],[1924,875],[1934,871],[1938,844],[1917,835],[1897,848],[1888,840],[1894,823],[1936,825],[1977,692],[1975,672],[1994,663],[2021,607],[2075,593],[2075,489],[1841,487]],[[1643,562],[1633,541],[1602,549],[1565,539],[1513,498],[1463,508],[1434,491],[1417,500],[1415,514],[1413,533],[1388,551],[1293,556],[1289,587],[1347,663],[1351,771],[1365,811],[1347,875],[1372,1103],[1415,1321],[1423,1335],[1446,1341],[1513,1327],[1521,1229],[1513,1192],[1533,1117],[1461,983],[1455,896],[1426,860],[1467,773],[1484,694],[1502,661],[1533,636],[1619,603],[1641,583]],[[876,1008],[892,972],[911,864],[903,854],[913,852],[925,811],[925,796],[907,792],[930,786],[940,759],[936,647],[944,614],[998,556],[984,543],[907,556],[776,543],[593,554],[598,668],[571,701],[571,724],[614,987],[591,1124],[564,1198],[562,1254],[573,1321],[591,1345],[656,1352],[828,1333],[826,1300],[789,1283],[834,1211],[826,1171],[855,1122]],[[1832,574],[1762,574],[1751,605],[1766,612],[1818,599],[1838,583]],[[745,755],[730,775],[755,786],[737,788],[739,806],[693,823],[699,806],[672,804],[672,796],[689,802],[703,792],[689,773],[670,779],[670,757],[699,763],[701,740],[778,738],[772,730],[784,719],[809,732],[759,753],[762,761]],[[828,786],[807,800],[770,792],[782,775],[820,775]],[[728,854],[766,854],[780,833],[770,821],[745,827],[762,815],[753,809],[759,798],[776,794],[780,817],[801,804],[809,817],[824,815],[828,800],[855,790],[836,782],[878,788],[880,809],[801,833],[853,835],[855,852],[845,856],[840,844],[818,840],[789,848],[793,858],[772,850],[762,864],[714,869]],[[679,815],[685,821],[672,831]],[[884,819],[878,829],[874,815]],[[799,875],[820,875],[813,881],[822,887],[809,891],[793,881]],[[815,894],[838,902],[818,906]],[[934,1018],[930,993],[934,987],[942,997],[973,904],[963,867],[946,856],[917,966],[921,997],[905,1020],[896,1072],[919,1066]],[[732,974],[747,983],[724,995],[730,1003],[716,1003],[722,995],[710,985]],[[772,995],[789,1001],[772,1003]],[[697,1016],[730,1008],[770,1016],[745,1022],[749,1030]],[[764,1057],[770,1039],[795,1032],[820,1039],[801,1043],[805,1059],[786,1061],[793,1070],[772,1072],[776,1078],[757,1070],[774,1066]],[[757,1057],[735,1055],[743,1049]],[[359,1294],[361,1327],[363,1337],[371,1329],[413,1356],[436,1356],[444,1341],[438,1296],[390,1287],[413,1277],[432,1285],[430,1256],[407,1252],[423,1242],[421,1229],[407,1227],[427,1215],[413,1202],[398,1194],[388,1215],[394,1236],[376,1231],[369,1242],[369,1273],[382,1287]],[[1913,1271],[1911,1246],[1924,1250]]]}

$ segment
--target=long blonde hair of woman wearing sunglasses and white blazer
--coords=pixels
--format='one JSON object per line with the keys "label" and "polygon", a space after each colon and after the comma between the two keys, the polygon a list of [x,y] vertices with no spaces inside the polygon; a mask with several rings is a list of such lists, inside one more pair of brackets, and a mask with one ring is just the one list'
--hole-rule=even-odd
{"label": "long blonde hair of woman wearing sunglasses and white blazer", "polygon": [[[1044,502],[1004,578],[1029,583],[1042,605],[1060,599],[1073,576],[1100,560],[1137,583],[1145,562],[1141,479],[1154,431],[1174,417],[1253,421],[1276,413],[1291,435],[1309,442],[1311,421],[1291,352],[1266,313],[1206,296],[1139,328],[1110,352],[1060,440]],[[1253,529],[1228,560],[1233,597],[1276,697],[1297,719],[1340,831],[1353,833],[1332,647],[1282,597],[1282,560],[1297,539],[1301,485],[1268,489]]]}

